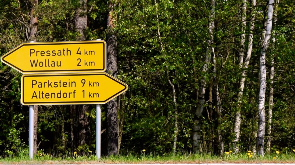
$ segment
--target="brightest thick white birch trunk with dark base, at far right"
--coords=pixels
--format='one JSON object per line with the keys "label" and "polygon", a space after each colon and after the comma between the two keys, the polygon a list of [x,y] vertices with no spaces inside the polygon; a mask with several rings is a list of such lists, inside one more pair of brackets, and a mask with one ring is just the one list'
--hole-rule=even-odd
{"label": "brightest thick white birch trunk with dark base, at far right", "polygon": [[262,44],[262,50],[260,54],[260,90],[259,90],[259,100],[258,100],[258,131],[257,131],[257,141],[256,150],[258,155],[264,155],[264,136],[265,136],[265,90],[266,90],[266,51],[269,45],[269,40],[271,38],[272,29],[272,18],[273,18],[273,5],[274,0],[268,1],[268,14],[267,14],[267,25],[266,34]]}

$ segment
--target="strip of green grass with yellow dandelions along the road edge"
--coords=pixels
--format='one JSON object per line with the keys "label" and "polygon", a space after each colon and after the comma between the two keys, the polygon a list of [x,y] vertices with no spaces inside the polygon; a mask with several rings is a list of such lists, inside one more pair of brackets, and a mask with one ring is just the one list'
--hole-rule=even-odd
{"label": "strip of green grass with yellow dandelions along the road edge", "polygon": [[[246,153],[242,154],[224,154],[224,156],[215,156],[211,154],[172,154],[166,156],[158,156],[153,153],[144,153],[138,155],[117,155],[117,156],[102,156],[97,160],[95,155],[65,157],[53,157],[47,154],[35,155],[33,160],[30,160],[28,155],[19,154],[18,156],[0,157],[0,164],[153,164],[153,163],[293,163],[295,162],[294,153],[271,153],[265,154],[262,158],[260,156],[253,156],[249,158]],[[276,159],[273,159],[276,157]]]}

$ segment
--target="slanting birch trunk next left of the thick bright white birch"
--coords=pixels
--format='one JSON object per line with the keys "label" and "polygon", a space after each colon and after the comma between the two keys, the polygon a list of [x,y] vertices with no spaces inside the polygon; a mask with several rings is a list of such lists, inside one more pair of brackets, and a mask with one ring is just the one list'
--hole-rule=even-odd
{"label": "slanting birch trunk next left of the thick bright white birch", "polygon": [[[254,29],[254,21],[255,21],[255,7],[256,7],[256,0],[252,0],[252,4],[251,4],[251,20],[250,20],[250,32],[248,35],[248,51],[247,51],[247,55],[245,58],[245,61],[242,62],[243,65],[240,67],[242,67],[242,76],[241,76],[241,80],[240,80],[240,90],[237,96],[237,102],[238,102],[238,106],[237,106],[237,112],[235,114],[235,125],[234,125],[234,133],[236,135],[236,138],[233,141],[233,145],[234,145],[234,151],[235,152],[239,152],[239,147],[236,145],[237,142],[240,139],[240,126],[241,126],[241,109],[240,109],[240,105],[241,105],[241,99],[242,99],[242,95],[244,92],[244,87],[245,87],[245,79],[246,79],[246,71],[250,62],[250,58],[251,58],[251,54],[252,54],[252,47],[253,47],[253,29]],[[241,41],[242,42],[242,41]],[[241,51],[241,50],[240,50]],[[241,60],[240,60],[241,62]]]}

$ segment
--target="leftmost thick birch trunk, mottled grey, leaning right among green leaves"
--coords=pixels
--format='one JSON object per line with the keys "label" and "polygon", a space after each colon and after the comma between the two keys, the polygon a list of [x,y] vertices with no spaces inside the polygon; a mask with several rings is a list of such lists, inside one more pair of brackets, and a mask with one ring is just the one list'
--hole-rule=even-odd
{"label": "leftmost thick birch trunk, mottled grey, leaning right among green leaves", "polygon": [[[208,40],[208,47],[205,53],[205,61],[202,68],[202,73],[206,73],[208,71],[208,65],[211,60],[211,53],[212,53],[212,42],[213,42],[213,29],[214,29],[214,12],[215,12],[215,0],[211,0],[211,14],[209,17],[209,40]],[[200,132],[200,120],[201,115],[204,110],[204,102],[205,102],[205,87],[206,87],[206,80],[203,78],[201,80],[199,86],[199,96],[198,96],[198,106],[194,116],[194,126],[193,126],[193,151],[194,153],[200,153],[201,149],[201,132]]]}

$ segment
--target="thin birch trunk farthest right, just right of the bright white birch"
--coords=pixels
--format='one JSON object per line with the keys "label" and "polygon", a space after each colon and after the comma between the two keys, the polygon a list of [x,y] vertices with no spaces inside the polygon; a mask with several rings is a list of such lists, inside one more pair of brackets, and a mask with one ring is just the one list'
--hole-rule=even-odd
{"label": "thin birch trunk farthest right, just right of the bright white birch", "polygon": [[[273,24],[276,25],[277,21],[277,12],[278,12],[278,4],[280,3],[279,0],[276,1],[275,4],[275,9],[273,13]],[[273,32],[273,47],[275,46],[276,38],[275,38],[275,31]],[[269,100],[268,100],[268,129],[267,129],[267,134],[268,134],[268,140],[266,143],[267,146],[267,151],[271,152],[271,124],[272,124],[272,114],[273,114],[273,77],[274,77],[274,54],[271,54],[271,69],[270,69],[270,77],[269,79],[271,80],[270,84],[270,91],[269,91]]]}

